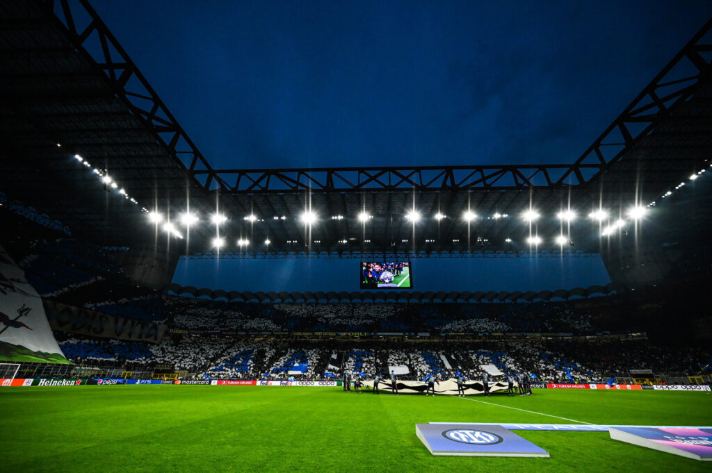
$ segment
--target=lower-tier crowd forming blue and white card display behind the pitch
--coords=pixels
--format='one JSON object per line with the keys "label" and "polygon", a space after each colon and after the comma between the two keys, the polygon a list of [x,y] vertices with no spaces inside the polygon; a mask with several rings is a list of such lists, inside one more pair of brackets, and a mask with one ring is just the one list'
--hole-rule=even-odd
{"label": "lower-tier crowd forming blue and white card display behind the pitch", "polygon": [[[222,336],[167,336],[159,344],[135,341],[69,338],[63,353],[75,363],[96,366],[150,368],[171,366],[175,372],[206,378],[323,378],[331,373],[375,376],[389,366],[405,366],[405,378],[427,373],[454,376],[457,371],[476,376],[483,365],[503,373],[529,371],[545,382],[602,382],[630,376],[629,370],[684,373],[708,370],[709,351],[700,347],[662,349],[642,341],[481,341],[424,342],[296,341],[234,339]],[[333,354],[343,354],[333,366]]]}

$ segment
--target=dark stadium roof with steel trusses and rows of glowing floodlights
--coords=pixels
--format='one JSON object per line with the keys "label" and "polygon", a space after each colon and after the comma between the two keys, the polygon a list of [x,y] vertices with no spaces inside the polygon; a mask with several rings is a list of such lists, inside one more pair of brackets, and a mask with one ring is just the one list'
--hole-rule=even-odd
{"label": "dark stadium roof with steel trusses and rows of glowing floodlights", "polygon": [[[712,21],[570,163],[228,170],[211,168],[87,1],[6,1],[0,23],[0,190],[101,245],[164,235],[147,211],[187,237],[177,216],[189,208],[202,220],[189,238],[162,236],[189,255],[215,251],[216,209],[229,219],[221,251],[246,257],[518,255],[531,235],[540,250],[590,255],[627,208],[660,203],[712,158]],[[562,224],[569,206],[579,221]],[[609,223],[587,218],[597,208]]]}

